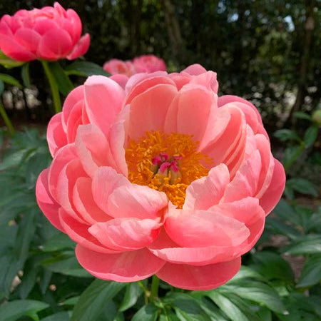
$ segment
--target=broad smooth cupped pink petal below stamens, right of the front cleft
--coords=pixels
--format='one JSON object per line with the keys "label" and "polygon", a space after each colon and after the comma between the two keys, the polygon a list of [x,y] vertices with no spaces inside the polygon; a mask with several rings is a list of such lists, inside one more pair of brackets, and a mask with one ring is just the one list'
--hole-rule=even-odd
{"label": "broad smooth cupped pink petal below stamens, right of the front cleft", "polygon": [[237,246],[250,235],[244,223],[214,210],[170,210],[165,230],[185,248]]}

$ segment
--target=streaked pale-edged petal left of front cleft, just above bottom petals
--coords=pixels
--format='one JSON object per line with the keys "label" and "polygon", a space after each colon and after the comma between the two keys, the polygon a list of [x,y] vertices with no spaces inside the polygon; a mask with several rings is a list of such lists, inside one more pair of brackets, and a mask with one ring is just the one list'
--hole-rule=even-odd
{"label": "streaked pale-edged petal left of front cleft, just above bottom petals", "polygon": [[88,231],[99,242],[113,250],[139,250],[158,237],[160,224],[156,220],[115,218],[92,225]]}

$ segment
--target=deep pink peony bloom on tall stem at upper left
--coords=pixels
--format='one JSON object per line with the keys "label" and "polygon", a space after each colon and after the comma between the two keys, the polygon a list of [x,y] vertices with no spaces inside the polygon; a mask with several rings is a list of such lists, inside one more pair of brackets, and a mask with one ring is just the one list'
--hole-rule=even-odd
{"label": "deep pink peony bloom on tall stem at upper left", "polygon": [[17,61],[76,59],[90,44],[89,34],[81,37],[81,28],[78,14],[58,2],[54,7],[19,10],[0,20],[0,49]]}

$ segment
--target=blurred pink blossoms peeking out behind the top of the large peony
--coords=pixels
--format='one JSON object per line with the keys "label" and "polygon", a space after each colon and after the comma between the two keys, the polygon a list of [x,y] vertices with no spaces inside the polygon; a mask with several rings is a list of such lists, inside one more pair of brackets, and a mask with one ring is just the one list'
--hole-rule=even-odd
{"label": "blurred pink blossoms peeking out behind the top of the large peony", "polygon": [[103,69],[112,75],[122,74],[133,76],[135,73],[153,73],[154,71],[166,71],[166,64],[163,59],[154,55],[143,55],[133,61],[122,61],[111,59],[103,64]]}

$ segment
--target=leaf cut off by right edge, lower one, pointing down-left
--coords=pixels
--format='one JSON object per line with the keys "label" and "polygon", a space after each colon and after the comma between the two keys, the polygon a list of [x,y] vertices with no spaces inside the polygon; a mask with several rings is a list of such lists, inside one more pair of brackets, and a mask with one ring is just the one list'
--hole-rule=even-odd
{"label": "leaf cut off by right edge, lower one, pointing down-left", "polygon": [[310,287],[321,281],[321,255],[312,255],[303,265],[297,287]]}

